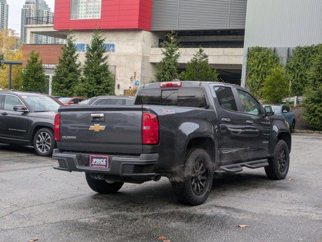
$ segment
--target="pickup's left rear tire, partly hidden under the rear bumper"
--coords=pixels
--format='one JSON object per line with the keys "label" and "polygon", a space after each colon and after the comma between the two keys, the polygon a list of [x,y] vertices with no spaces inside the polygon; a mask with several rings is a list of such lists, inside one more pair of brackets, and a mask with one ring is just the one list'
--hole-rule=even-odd
{"label": "pickup's left rear tire, partly hidden under the rear bumper", "polygon": [[88,186],[96,193],[111,194],[121,189],[124,183],[107,183],[105,180],[97,180],[91,177],[90,173],[85,173]]}

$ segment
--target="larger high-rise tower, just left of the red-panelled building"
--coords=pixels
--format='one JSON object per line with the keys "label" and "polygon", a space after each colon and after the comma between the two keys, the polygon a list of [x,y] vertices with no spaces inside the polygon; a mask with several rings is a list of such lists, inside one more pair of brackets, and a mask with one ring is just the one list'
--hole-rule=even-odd
{"label": "larger high-rise tower, just left of the red-panelled building", "polygon": [[[21,42],[26,43],[27,41],[26,25],[50,24],[53,16],[53,12],[44,0],[27,0],[21,10]],[[53,44],[56,42],[56,38],[35,34],[33,42],[35,44]]]}

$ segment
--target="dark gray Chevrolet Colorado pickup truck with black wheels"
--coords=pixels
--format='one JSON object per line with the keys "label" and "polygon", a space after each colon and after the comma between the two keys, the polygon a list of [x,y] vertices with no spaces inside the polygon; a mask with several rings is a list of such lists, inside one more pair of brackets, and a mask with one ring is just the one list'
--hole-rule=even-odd
{"label": "dark gray Chevrolet Colorado pickup truck with black wheels", "polygon": [[146,84],[130,106],[60,107],[54,136],[54,168],[85,172],[95,192],[166,176],[188,205],[206,201],[214,171],[265,167],[269,178],[285,178],[291,150],[288,124],[273,107],[212,82]]}

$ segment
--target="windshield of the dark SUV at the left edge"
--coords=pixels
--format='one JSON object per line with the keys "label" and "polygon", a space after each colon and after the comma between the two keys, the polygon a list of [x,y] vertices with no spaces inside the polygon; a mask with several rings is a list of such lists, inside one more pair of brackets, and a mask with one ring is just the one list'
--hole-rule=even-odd
{"label": "windshield of the dark SUV at the left edge", "polygon": [[47,96],[24,96],[22,98],[35,112],[58,111],[61,106],[54,99]]}

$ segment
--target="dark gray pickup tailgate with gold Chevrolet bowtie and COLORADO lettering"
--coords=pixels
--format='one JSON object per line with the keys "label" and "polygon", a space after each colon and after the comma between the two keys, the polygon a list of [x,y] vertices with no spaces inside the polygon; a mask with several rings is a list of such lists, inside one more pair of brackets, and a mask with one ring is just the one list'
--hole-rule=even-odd
{"label": "dark gray pickup tailgate with gold Chevrolet bowtie and COLORADO lettering", "polygon": [[142,106],[61,107],[60,150],[142,154]]}

